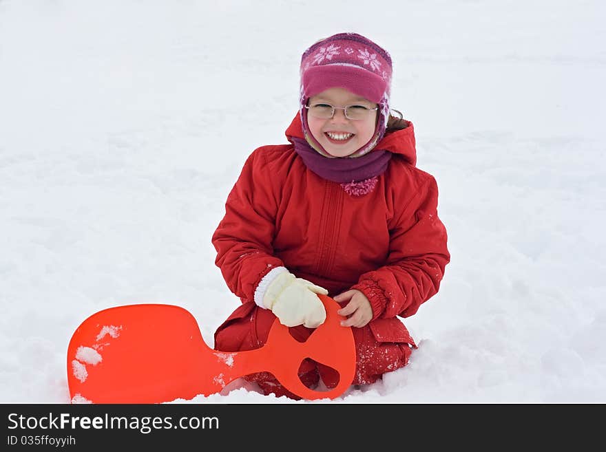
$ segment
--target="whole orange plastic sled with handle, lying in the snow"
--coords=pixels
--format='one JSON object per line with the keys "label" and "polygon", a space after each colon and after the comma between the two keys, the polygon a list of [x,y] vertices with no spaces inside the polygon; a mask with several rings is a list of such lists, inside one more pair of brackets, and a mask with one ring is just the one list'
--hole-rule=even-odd
{"label": "whole orange plastic sled with handle, lying in the snow", "polygon": [[[161,403],[208,396],[236,378],[271,372],[301,398],[335,398],[351,385],[355,345],[342,327],[339,305],[319,295],[326,321],[300,343],[274,321],[267,343],[246,352],[218,352],[202,338],[191,313],[163,304],[124,305],[96,312],[74,332],[67,347],[72,402]],[[297,376],[311,358],[339,372],[339,384],[314,391]]]}

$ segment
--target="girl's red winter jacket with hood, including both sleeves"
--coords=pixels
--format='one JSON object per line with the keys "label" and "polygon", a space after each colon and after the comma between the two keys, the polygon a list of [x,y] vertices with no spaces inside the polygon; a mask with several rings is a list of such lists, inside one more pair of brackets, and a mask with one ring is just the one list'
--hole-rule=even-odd
{"label": "girl's red winter jacket with hood, including both sleeves", "polygon": [[[290,136],[303,138],[298,115]],[[438,291],[450,254],[435,179],[415,167],[412,123],[386,133],[376,149],[394,155],[375,189],[359,197],[308,170],[292,144],[251,153],[212,237],[216,265],[242,303],[254,303],[276,266],[331,297],[361,290],[373,320],[411,316]]]}

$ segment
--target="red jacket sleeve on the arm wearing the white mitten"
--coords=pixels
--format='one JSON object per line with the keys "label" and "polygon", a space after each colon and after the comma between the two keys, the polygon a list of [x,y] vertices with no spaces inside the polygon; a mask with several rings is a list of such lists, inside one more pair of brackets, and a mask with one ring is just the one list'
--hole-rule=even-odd
{"label": "red jacket sleeve on the arm wearing the white mitten", "polygon": [[275,267],[273,256],[277,200],[272,194],[262,149],[253,152],[225,203],[225,215],[212,236],[216,265],[229,290],[242,303],[254,299],[259,281]]}

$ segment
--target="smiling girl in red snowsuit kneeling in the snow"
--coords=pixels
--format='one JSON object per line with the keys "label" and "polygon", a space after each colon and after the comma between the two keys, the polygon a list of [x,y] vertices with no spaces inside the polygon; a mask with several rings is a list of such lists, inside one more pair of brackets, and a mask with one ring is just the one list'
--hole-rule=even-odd
{"label": "smiling girl in red snowsuit kneeling in the snow", "polygon": [[[412,123],[390,115],[391,76],[388,52],[359,34],[304,52],[289,144],[251,153],[212,237],[216,265],[242,301],[216,330],[216,349],[261,347],[276,317],[304,341],[326,318],[317,294],[328,294],[353,327],[353,384],[408,363],[416,345],[397,316],[438,291],[450,254],[437,184],[415,166]],[[309,387],[338,383],[311,359],[299,376]],[[247,380],[297,398],[267,372]]]}

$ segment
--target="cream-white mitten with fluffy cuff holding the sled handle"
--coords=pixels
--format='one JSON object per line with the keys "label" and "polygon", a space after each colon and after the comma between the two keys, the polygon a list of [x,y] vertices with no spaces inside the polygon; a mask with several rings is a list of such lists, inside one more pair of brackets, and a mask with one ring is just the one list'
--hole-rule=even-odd
{"label": "cream-white mitten with fluffy cuff holding the sled handle", "polygon": [[328,290],[291,272],[282,272],[267,286],[263,305],[282,325],[317,328],[326,320],[326,310],[317,294],[328,295]]}

